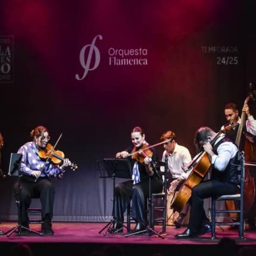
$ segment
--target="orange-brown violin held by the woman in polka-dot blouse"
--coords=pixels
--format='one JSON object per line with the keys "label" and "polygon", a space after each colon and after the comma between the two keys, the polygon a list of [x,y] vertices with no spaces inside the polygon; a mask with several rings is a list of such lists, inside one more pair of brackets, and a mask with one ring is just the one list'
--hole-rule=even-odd
{"label": "orange-brown violin held by the woman in polka-dot blouse", "polygon": [[[50,143],[47,143],[45,148],[41,148],[38,152],[38,156],[42,160],[51,160],[54,164],[61,164],[64,161],[65,154],[63,151],[54,150]],[[77,164],[71,163],[71,170],[76,170],[78,168]]]}

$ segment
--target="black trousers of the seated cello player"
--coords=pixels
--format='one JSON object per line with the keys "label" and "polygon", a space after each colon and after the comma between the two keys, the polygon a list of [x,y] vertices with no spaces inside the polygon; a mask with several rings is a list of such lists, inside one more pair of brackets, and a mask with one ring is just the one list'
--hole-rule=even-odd
{"label": "black trousers of the seated cello player", "polygon": [[201,227],[209,224],[204,211],[204,199],[212,196],[229,195],[239,193],[237,185],[219,180],[206,180],[192,189],[191,215],[188,228],[192,233],[198,234]]}

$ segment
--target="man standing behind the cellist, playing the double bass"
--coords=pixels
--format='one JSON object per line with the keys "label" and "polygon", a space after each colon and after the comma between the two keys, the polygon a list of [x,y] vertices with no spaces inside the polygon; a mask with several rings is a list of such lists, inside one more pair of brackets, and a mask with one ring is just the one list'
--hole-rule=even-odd
{"label": "man standing behind the cellist, playing the double bass", "polygon": [[[245,111],[247,115],[247,120],[245,122],[245,132],[251,133],[251,135],[256,136],[256,120],[251,115],[249,106],[247,104],[243,105],[242,111]],[[227,118],[228,124],[241,123],[241,118],[239,117],[238,107],[235,103],[230,102],[224,107],[224,114]],[[227,124],[226,124],[227,125]],[[224,125],[224,126],[226,126]],[[231,141],[236,141],[236,135],[238,134],[238,126],[233,127],[232,130],[226,132],[226,137]]]}

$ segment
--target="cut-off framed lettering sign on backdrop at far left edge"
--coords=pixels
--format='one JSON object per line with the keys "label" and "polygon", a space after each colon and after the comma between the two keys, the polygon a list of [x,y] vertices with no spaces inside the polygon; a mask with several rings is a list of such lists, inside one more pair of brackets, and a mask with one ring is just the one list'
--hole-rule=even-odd
{"label": "cut-off framed lettering sign on backdrop at far left edge", "polygon": [[0,83],[14,82],[13,36],[0,36]]}

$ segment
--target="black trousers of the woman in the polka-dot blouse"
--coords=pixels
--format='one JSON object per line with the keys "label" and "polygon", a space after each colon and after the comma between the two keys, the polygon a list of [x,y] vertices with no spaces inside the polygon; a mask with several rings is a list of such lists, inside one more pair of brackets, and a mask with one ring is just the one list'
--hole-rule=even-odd
{"label": "black trousers of the woman in the polka-dot blouse", "polygon": [[14,185],[14,193],[17,201],[20,201],[19,215],[21,224],[28,224],[27,208],[29,208],[32,198],[40,198],[43,219],[52,219],[55,190],[47,177],[40,177],[35,182],[35,177],[24,175],[20,177],[20,192],[18,183],[16,183]]}

